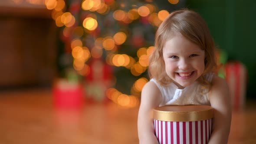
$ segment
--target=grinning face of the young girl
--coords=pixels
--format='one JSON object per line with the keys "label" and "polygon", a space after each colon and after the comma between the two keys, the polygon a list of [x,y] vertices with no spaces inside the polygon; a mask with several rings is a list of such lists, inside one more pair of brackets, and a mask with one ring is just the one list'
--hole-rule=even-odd
{"label": "grinning face of the young girl", "polygon": [[181,89],[193,84],[204,71],[204,50],[181,34],[167,40],[163,58],[167,75]]}

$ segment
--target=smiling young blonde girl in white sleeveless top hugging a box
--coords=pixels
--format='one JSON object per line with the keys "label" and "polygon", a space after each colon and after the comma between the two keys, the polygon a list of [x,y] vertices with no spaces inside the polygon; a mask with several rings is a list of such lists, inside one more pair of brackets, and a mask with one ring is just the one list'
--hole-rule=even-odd
{"label": "smiling young blonde girl in white sleeveless top hugging a box", "polygon": [[172,12],[161,24],[150,57],[151,80],[141,92],[140,144],[158,144],[152,109],[164,105],[210,105],[213,131],[208,144],[227,144],[231,106],[228,86],[213,73],[215,45],[203,18],[192,10]]}

